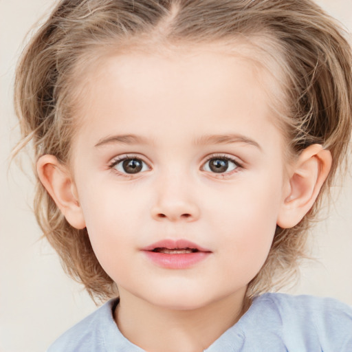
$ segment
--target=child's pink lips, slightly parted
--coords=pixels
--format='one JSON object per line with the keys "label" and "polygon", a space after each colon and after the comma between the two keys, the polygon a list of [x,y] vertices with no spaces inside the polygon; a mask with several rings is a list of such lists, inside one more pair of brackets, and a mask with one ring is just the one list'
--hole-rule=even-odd
{"label": "child's pink lips, slightly parted", "polygon": [[[153,252],[155,248],[167,248],[169,250],[190,248],[192,250],[197,250],[197,252],[168,254]],[[212,253],[210,250],[202,248],[185,239],[179,239],[176,241],[172,239],[164,239],[153,243],[152,245],[148,245],[146,248],[142,248],[142,251],[148,259],[153,261],[153,263],[167,269],[187,269],[188,267],[192,267],[200,261],[203,261]]]}

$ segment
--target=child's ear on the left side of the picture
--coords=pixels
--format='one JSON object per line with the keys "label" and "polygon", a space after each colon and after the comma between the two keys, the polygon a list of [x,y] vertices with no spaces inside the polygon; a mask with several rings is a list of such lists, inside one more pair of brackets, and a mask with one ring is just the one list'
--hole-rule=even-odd
{"label": "child's ear on the left side of the picture", "polygon": [[54,155],[42,155],[36,163],[41,183],[54,199],[66,220],[77,229],[85,228],[85,219],[78,202],[77,190],[69,168]]}

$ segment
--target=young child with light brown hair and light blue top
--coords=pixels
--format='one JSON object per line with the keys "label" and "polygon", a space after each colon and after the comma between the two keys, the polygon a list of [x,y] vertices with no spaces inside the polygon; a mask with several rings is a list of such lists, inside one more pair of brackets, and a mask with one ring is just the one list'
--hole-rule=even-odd
{"label": "young child with light brown hair and light blue top", "polygon": [[351,136],[351,50],[309,0],[62,0],[17,69],[36,216],[111,298],[58,351],[352,351],[292,277]]}

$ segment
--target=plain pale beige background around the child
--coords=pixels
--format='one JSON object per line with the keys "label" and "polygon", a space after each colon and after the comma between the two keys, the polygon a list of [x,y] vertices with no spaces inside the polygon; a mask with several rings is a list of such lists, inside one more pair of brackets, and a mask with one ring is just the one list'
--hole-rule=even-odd
{"label": "plain pale beige background around the child", "polygon": [[[8,155],[18,139],[12,107],[14,66],[25,34],[52,0],[0,0],[0,352],[45,351],[50,342],[95,309],[82,287],[67,278],[30,210],[32,184]],[[320,5],[352,29],[351,0]],[[30,173],[30,166],[26,166]],[[352,178],[340,192],[312,248],[318,261],[302,268],[289,292],[333,296],[352,305]]]}

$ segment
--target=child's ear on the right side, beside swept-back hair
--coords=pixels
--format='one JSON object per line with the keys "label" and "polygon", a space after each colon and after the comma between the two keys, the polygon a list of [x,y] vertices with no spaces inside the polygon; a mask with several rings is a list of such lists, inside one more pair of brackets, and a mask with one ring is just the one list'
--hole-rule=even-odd
{"label": "child's ear on the right side, beside swept-back hair", "polygon": [[331,168],[331,153],[313,144],[300,153],[287,181],[277,225],[293,228],[311,209]]}

